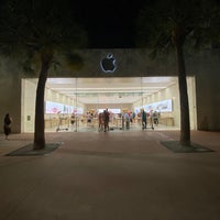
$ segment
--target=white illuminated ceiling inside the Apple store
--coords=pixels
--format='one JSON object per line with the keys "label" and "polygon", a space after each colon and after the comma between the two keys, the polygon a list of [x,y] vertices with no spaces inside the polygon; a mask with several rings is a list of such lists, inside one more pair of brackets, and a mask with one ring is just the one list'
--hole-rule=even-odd
{"label": "white illuminated ceiling inside the Apple store", "polygon": [[48,78],[46,87],[81,103],[133,103],[174,84],[176,77]]}

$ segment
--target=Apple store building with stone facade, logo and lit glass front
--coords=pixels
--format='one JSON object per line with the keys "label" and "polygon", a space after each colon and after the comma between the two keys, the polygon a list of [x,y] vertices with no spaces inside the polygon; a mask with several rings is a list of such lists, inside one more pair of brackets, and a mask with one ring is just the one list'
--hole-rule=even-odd
{"label": "Apple store building with stone facade, logo and lit glass front", "polygon": [[[85,50],[78,53],[84,61],[80,68],[62,66],[58,74],[50,73],[45,87],[46,132],[98,132],[98,113],[105,109],[110,112],[113,132],[141,131],[142,109],[148,116],[152,112],[157,116],[158,123],[148,117],[148,129],[153,123],[154,130],[179,130],[179,89],[174,58],[151,61],[139,50]],[[205,55],[206,59],[202,59]],[[219,92],[219,63],[215,58],[209,53],[186,61],[191,130],[220,129],[210,114],[213,101],[219,101],[212,96],[215,91]],[[4,107],[1,114],[11,112],[18,132],[34,132],[37,76],[21,73],[16,77],[19,84],[14,82],[12,74],[1,77],[6,81],[1,89],[13,84],[9,97],[15,100],[13,107],[3,105],[6,98],[1,95]],[[132,116],[129,125],[123,120],[127,113]]]}

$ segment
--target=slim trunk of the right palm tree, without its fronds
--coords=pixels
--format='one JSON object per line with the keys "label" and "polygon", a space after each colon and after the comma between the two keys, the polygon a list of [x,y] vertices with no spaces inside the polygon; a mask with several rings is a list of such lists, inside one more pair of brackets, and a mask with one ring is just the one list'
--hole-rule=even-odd
{"label": "slim trunk of the right palm tree, without its fronds", "polygon": [[176,45],[177,63],[178,63],[178,86],[180,102],[180,139],[182,145],[190,145],[190,122],[189,122],[189,105],[186,81],[186,68],[183,45]]}

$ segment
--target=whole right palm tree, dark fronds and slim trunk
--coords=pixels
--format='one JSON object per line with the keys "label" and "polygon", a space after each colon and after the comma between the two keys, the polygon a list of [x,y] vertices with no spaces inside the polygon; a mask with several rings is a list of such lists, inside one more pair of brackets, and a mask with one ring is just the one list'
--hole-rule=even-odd
{"label": "whole right palm tree, dark fronds and slim trunk", "polygon": [[[155,58],[176,52],[180,102],[180,145],[190,146],[189,106],[184,50],[187,44],[207,45],[219,37],[219,4],[217,0],[156,0],[138,20],[139,45],[152,48]],[[219,30],[219,28],[218,28]],[[218,35],[218,36],[217,36]],[[219,38],[218,38],[219,41]]]}

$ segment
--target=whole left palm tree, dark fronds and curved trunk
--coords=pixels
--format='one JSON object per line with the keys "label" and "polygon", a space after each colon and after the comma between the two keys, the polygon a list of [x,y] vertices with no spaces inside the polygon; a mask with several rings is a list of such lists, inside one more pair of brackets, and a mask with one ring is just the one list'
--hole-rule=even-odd
{"label": "whole left palm tree, dark fronds and curved trunk", "polygon": [[[86,44],[85,31],[74,22],[68,0],[6,0],[0,23],[0,48],[6,55],[38,57],[34,150],[45,147],[44,90],[50,67],[58,54]],[[30,63],[30,62],[28,62]],[[26,64],[26,62],[25,62]],[[30,69],[30,68],[29,68]]]}

